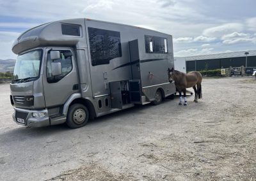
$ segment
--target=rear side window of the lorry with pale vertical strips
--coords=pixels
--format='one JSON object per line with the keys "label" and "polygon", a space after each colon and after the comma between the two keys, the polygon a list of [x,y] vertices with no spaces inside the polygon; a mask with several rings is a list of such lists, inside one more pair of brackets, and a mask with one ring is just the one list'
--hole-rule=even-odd
{"label": "rear side window of the lorry with pale vertical strips", "polygon": [[167,54],[167,39],[159,36],[145,35],[146,53]]}

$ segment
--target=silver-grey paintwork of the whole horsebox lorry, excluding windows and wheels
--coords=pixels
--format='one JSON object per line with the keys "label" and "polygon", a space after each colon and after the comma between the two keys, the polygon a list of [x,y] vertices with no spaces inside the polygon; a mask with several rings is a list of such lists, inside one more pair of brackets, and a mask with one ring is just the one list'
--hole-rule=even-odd
{"label": "silver-grey paintwork of the whole horsebox lorry, excluding windows and wheels", "polygon": [[[79,25],[80,36],[63,35],[61,24]],[[88,27],[120,32],[122,57],[112,59],[109,64],[92,66]],[[168,54],[146,54],[145,35],[166,38]],[[137,43],[134,51],[137,48],[138,54],[131,54],[133,50],[129,42],[132,40],[138,40],[131,43],[132,46]],[[77,18],[40,25],[21,34],[13,43],[12,48],[15,54],[42,48],[44,55],[40,76],[34,82],[28,82],[26,84],[28,86],[22,83],[11,84],[11,94],[13,96],[24,94],[35,96],[35,105],[31,108],[32,110],[49,110],[51,115],[62,110],[60,117],[51,118],[49,124],[65,122],[68,107],[73,101],[77,100],[90,103],[94,108],[96,117],[134,106],[134,103],[127,103],[126,105],[116,106],[118,108],[111,107],[111,96],[113,96],[109,89],[111,82],[120,82],[122,89],[125,82],[139,81],[141,87],[143,87],[141,96],[145,96],[146,102],[154,101],[157,89],[161,89],[164,97],[175,92],[174,83],[166,83],[168,82],[167,69],[173,67],[172,44],[172,36],[169,34],[98,20]],[[47,82],[47,55],[50,50],[70,50],[73,54],[72,71],[56,83]],[[122,66],[129,64],[131,59],[134,61],[136,59],[140,59],[140,61],[158,59],[159,61],[138,62],[138,64],[132,66]],[[150,76],[149,72],[153,76]],[[76,84],[79,85],[78,90],[73,89]],[[120,96],[116,96],[116,98],[120,99]],[[106,100],[109,101],[108,105],[105,103]],[[99,107],[99,101],[102,102],[102,107]],[[138,103],[143,104],[142,102]],[[27,110],[28,108],[24,107],[24,109]]]}

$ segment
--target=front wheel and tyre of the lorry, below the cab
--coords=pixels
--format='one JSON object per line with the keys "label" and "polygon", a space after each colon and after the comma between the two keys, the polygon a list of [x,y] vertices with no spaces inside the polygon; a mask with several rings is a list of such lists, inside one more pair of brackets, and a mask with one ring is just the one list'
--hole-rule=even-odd
{"label": "front wheel and tyre of the lorry, below the cab", "polygon": [[81,104],[71,105],[68,109],[67,125],[72,129],[83,127],[89,120],[89,111]]}

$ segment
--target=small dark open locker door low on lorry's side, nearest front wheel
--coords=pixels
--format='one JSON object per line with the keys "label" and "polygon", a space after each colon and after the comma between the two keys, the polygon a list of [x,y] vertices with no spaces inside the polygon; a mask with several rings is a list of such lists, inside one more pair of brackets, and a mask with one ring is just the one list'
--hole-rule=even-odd
{"label": "small dark open locker door low on lorry's side, nearest front wheel", "polygon": [[109,87],[110,87],[111,108],[122,110],[121,83],[119,81],[109,82]]}

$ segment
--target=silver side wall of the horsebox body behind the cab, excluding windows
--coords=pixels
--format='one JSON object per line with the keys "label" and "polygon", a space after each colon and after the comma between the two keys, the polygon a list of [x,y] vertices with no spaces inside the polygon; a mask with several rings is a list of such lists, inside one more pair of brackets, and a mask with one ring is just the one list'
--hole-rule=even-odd
{"label": "silver side wall of the horsebox body behind the cab, excluding windows", "polygon": [[[85,20],[85,25],[85,34],[88,35],[87,47],[93,97],[109,95],[111,92],[109,82],[124,82],[138,79],[140,80],[141,88],[145,87],[147,89],[145,96],[148,99],[154,98],[157,86],[163,89],[164,95],[175,92],[175,85],[174,83],[169,83],[167,72],[168,68],[174,67],[171,35],[129,25],[100,22],[97,20]],[[106,64],[93,65],[92,45],[90,45],[90,33],[88,32],[90,28],[104,29],[120,34],[119,50],[121,51],[121,55],[115,57],[115,59],[110,59]],[[146,50],[145,36],[166,39],[167,53],[148,53]],[[150,76],[149,72],[153,76]],[[123,88],[121,87],[121,89]]]}

